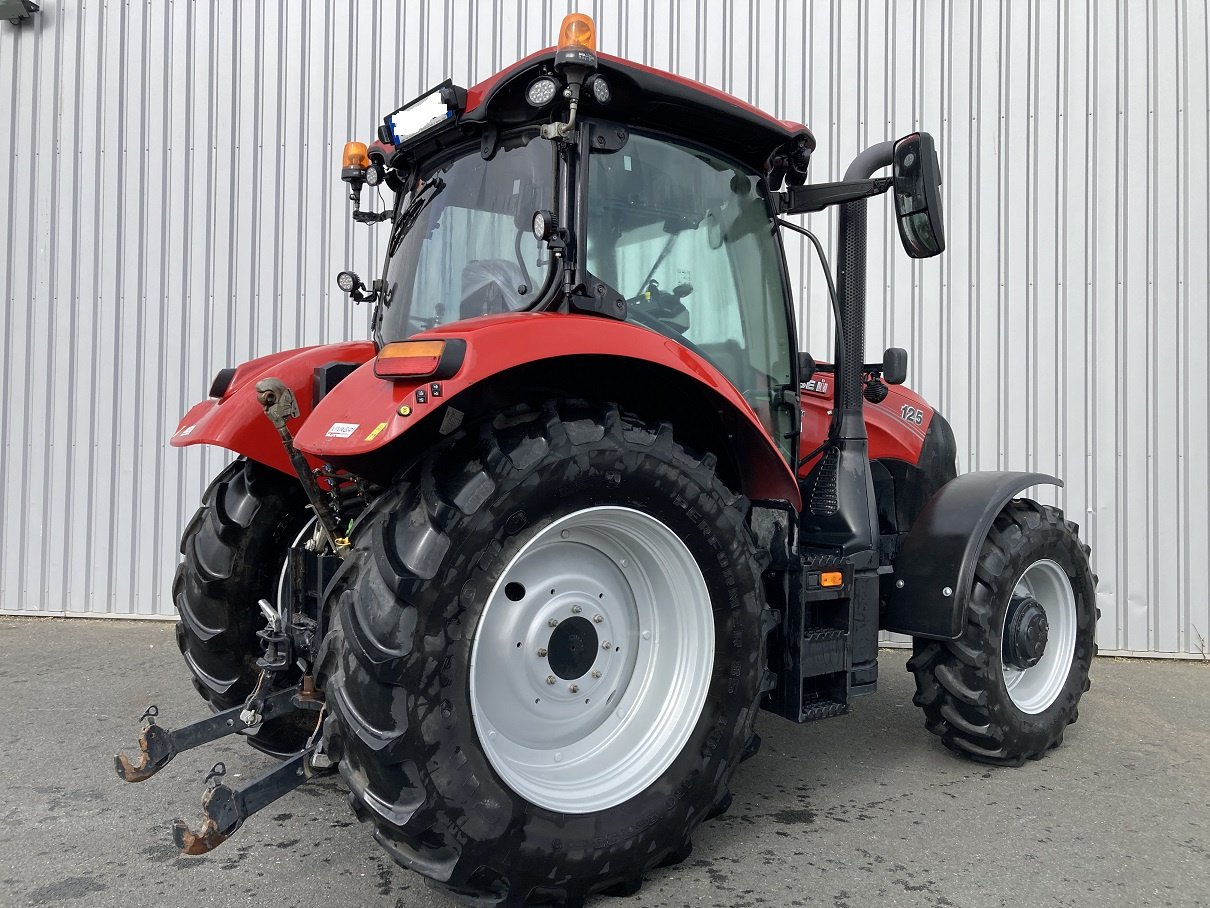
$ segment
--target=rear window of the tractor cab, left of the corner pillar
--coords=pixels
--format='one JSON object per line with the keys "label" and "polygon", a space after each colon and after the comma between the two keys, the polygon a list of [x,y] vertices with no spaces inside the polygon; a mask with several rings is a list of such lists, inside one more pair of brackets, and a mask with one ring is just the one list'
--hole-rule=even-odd
{"label": "rear window of the tractor cab, left of the corner pillar", "polygon": [[411,180],[387,243],[382,343],[541,298],[551,254],[531,224],[554,208],[555,159],[534,134],[502,139],[488,161],[474,145]]}

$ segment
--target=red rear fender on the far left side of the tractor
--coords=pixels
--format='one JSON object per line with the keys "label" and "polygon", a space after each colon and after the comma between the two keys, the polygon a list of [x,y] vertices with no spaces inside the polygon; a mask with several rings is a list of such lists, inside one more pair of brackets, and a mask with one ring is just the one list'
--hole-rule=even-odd
{"label": "red rear fender on the far left side of the tractor", "polygon": [[[257,401],[257,381],[276,378],[286,383],[299,402],[299,418],[287,423],[296,432],[311,414],[311,380],[317,366],[329,362],[367,362],[374,357],[374,344],[358,340],[345,344],[305,346],[263,356],[236,369],[231,385],[221,398],[195,404],[177,425],[169,444],[188,448],[214,444],[243,454],[283,473],[294,476],[282,439]],[[312,466],[318,466],[312,461]]]}

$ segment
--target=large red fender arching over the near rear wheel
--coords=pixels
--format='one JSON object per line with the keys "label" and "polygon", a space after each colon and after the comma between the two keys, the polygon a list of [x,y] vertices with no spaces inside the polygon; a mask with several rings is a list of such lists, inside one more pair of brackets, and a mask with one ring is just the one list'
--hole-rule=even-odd
{"label": "large red fender arching over the near rear wheel", "polygon": [[[444,381],[391,381],[367,363],[323,398],[295,438],[299,450],[357,472],[356,461],[381,450],[417,426],[440,419],[459,393],[509,369],[575,356],[610,356],[618,368],[644,362],[695,380],[736,426],[731,439],[742,492],[800,506],[799,485],[753,408],[707,360],[675,340],[627,322],[561,312],[512,312],[456,322],[414,339],[461,339],[466,355]],[[574,366],[569,366],[574,368]],[[599,389],[609,400],[609,387]],[[375,478],[375,477],[370,477]]]}

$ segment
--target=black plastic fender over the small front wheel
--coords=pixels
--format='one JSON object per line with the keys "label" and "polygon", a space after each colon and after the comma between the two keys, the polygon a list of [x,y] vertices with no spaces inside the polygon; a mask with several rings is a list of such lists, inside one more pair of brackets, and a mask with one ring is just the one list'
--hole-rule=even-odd
{"label": "black plastic fender over the small front wheel", "polygon": [[1045,473],[978,472],[945,483],[904,536],[894,573],[882,577],[887,631],[957,639],[984,536],[996,515],[1031,485],[1062,485]]}

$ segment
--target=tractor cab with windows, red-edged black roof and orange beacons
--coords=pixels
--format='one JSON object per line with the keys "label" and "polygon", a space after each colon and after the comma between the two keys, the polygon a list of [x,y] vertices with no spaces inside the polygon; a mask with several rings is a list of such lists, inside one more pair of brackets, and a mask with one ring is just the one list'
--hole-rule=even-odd
{"label": "tractor cab with windows, red-edged black roof and orange beacons", "polygon": [[[390,239],[371,291],[351,272],[339,283],[374,300],[380,346],[514,312],[657,332],[718,369],[797,470],[799,448],[824,437],[802,436],[803,410],[816,426],[819,401],[797,392],[813,375],[800,374],[779,215],[892,185],[824,184],[826,196],[803,186],[814,146],[800,123],[598,53],[590,21],[572,15],[558,47],[471,90],[444,82],[384,117],[374,144],[346,146],[353,218],[390,222]],[[918,163],[935,153],[921,151],[909,156],[935,182],[935,166]],[[393,207],[362,211],[365,183],[394,189]],[[917,195],[914,211],[941,237],[935,185]],[[901,406],[928,412],[916,398]]]}

